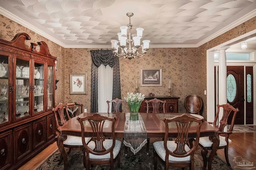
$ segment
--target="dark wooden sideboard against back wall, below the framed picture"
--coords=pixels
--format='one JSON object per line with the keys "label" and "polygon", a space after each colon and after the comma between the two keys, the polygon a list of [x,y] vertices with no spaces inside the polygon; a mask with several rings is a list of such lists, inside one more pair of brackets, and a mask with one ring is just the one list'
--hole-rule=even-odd
{"label": "dark wooden sideboard against back wall, below the framed picture", "polygon": [[[160,99],[160,100],[166,100],[166,104],[165,104],[165,110],[166,113],[178,113],[178,99],[179,97],[167,97],[167,96],[146,96],[145,99],[142,101],[141,106],[140,106],[140,113],[146,113],[147,112],[147,107],[149,112],[152,113],[153,111],[153,106],[151,103],[146,104],[146,100],[151,100],[151,99]],[[164,112],[163,109],[163,104],[160,104],[159,106],[159,110],[160,112]]]}

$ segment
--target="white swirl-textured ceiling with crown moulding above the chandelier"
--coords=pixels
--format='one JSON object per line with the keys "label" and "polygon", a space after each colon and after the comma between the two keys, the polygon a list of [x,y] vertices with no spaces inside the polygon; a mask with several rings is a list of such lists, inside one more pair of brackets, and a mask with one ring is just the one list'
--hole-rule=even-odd
{"label": "white swirl-textured ceiling with crown moulding above the chandelier", "polygon": [[70,48],[109,48],[133,12],[150,47],[198,47],[256,16],[256,0],[1,0],[0,13]]}

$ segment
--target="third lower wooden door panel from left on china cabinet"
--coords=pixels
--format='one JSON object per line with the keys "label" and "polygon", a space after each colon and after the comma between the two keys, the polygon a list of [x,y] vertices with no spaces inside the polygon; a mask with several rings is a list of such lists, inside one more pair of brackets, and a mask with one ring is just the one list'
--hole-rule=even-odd
{"label": "third lower wooden door panel from left on china cabinet", "polygon": [[33,122],[33,141],[34,141],[34,149],[38,148],[40,145],[46,142],[46,118],[42,117]]}

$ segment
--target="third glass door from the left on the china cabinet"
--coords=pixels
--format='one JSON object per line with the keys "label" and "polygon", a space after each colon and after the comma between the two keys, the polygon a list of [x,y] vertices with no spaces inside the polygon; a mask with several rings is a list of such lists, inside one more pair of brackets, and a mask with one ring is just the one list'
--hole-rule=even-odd
{"label": "third glass door from the left on the china cabinet", "polygon": [[34,64],[34,113],[44,111],[44,64]]}

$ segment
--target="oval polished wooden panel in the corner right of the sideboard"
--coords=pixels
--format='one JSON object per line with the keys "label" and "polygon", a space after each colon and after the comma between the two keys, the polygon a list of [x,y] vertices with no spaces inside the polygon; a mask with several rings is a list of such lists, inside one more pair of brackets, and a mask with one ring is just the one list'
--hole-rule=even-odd
{"label": "oval polished wooden panel in the corner right of the sideboard", "polygon": [[200,96],[189,95],[185,98],[184,106],[186,108],[186,113],[194,113],[200,115],[200,110],[203,106],[203,100]]}

